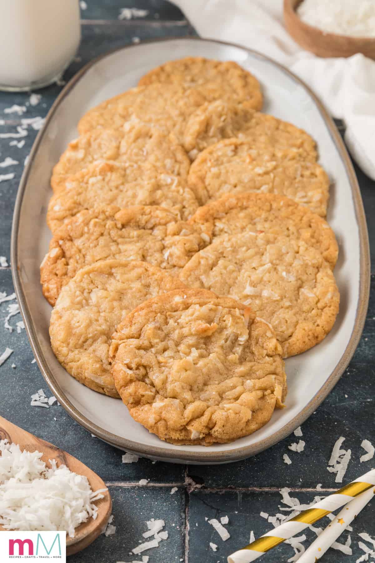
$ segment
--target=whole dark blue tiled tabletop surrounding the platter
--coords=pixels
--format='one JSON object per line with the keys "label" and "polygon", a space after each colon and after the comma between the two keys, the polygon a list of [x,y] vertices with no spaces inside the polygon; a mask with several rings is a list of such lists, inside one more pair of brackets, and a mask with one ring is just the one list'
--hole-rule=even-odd
{"label": "whole dark blue tiled tabletop surrounding the platter", "polygon": [[[83,40],[76,59],[67,69],[64,79],[69,80],[84,64],[93,57],[112,48],[134,41],[146,39],[184,37],[194,30],[184,21],[177,7],[162,0],[86,0],[87,8],[82,10]],[[119,20],[121,8],[148,10],[146,17]],[[95,20],[95,21],[92,21]],[[134,39],[137,38],[137,39]],[[0,182],[0,256],[9,262],[10,231],[12,211],[17,186],[20,181],[24,161],[30,152],[37,135],[37,129],[29,125],[25,137],[4,137],[17,133],[24,118],[45,117],[48,109],[62,89],[53,85],[40,90],[41,100],[30,105],[30,95],[26,93],[7,94],[0,92],[0,163],[7,157],[17,160],[17,164],[0,168],[0,175],[13,174],[14,177]],[[22,115],[6,113],[13,105],[25,106]],[[18,131],[19,133],[19,131]],[[22,141],[19,148],[10,146],[12,141]],[[116,561],[141,561],[142,555],[150,557],[150,563],[215,563],[225,562],[234,549],[240,548],[250,540],[250,532],[255,537],[272,528],[260,512],[269,515],[281,512],[279,489],[288,486],[291,496],[301,502],[313,501],[318,493],[318,483],[323,489],[335,489],[335,474],[327,470],[333,444],[340,436],[345,436],[345,449],[351,449],[351,460],[344,481],[360,475],[371,468],[375,462],[360,463],[363,439],[375,444],[374,396],[375,396],[375,225],[372,217],[375,212],[375,182],[369,180],[356,167],[367,213],[372,258],[372,287],[370,306],[362,339],[349,368],[335,389],[311,417],[302,425],[303,436],[293,434],[266,452],[250,459],[226,466],[189,466],[179,464],[152,463],[139,459],[137,463],[123,464],[121,452],[112,446],[93,438],[80,427],[57,404],[49,409],[30,406],[30,396],[43,388],[51,395],[37,364],[31,363],[33,354],[25,330],[17,333],[16,323],[20,315],[10,319],[14,327],[12,333],[3,328],[7,307],[12,302],[0,304],[0,354],[6,346],[13,354],[0,367],[0,414],[11,422],[27,428],[30,432],[57,444],[88,464],[107,482],[114,502],[116,534],[109,537],[101,535],[84,552],[70,557],[71,563],[115,563]],[[9,268],[0,268],[0,291],[12,293],[12,280]],[[12,368],[12,364],[16,367]],[[56,419],[56,420],[55,420]],[[304,440],[304,452],[291,452],[288,445]],[[283,462],[287,453],[291,465]],[[141,479],[148,479],[147,486],[137,486]],[[177,491],[171,493],[171,488]],[[208,524],[207,519],[228,515],[225,525],[231,534],[226,542]],[[358,547],[358,533],[367,531],[375,536],[375,504],[369,505],[353,525],[351,532],[353,555],[344,556],[332,549],[323,561],[347,561],[354,563],[361,555]],[[164,519],[168,540],[161,542],[159,548],[143,552],[138,556],[129,554],[146,531],[146,520]],[[323,522],[324,525],[327,522]],[[322,525],[323,525],[322,524]],[[319,524],[318,524],[319,525]],[[186,528],[189,533],[186,535]],[[305,547],[315,537],[309,530]],[[344,542],[347,533],[340,542]],[[217,544],[214,552],[209,543]],[[371,546],[369,546],[371,547]],[[293,556],[290,546],[280,546],[277,552],[264,556],[264,561],[273,563],[287,561]],[[371,558],[369,558],[371,561]]]}

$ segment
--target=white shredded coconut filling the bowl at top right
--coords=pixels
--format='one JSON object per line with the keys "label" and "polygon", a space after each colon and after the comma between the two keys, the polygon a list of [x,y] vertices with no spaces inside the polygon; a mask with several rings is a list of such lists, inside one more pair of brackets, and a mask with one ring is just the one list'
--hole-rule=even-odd
{"label": "white shredded coconut filling the bowl at top right", "polygon": [[375,37],[374,0],[304,0],[297,14],[323,32],[351,37]]}

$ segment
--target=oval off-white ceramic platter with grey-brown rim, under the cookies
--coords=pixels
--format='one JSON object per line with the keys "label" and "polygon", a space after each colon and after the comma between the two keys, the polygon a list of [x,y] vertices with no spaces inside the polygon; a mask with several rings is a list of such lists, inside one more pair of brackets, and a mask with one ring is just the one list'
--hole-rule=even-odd
{"label": "oval off-white ceramic platter with grey-brown rim, under the cookies", "polygon": [[[51,307],[39,284],[39,265],[51,233],[46,210],[49,180],[66,144],[77,136],[76,123],[94,105],[135,86],[154,66],[171,58],[204,56],[234,60],[250,70],[263,88],[263,111],[304,128],[318,144],[320,163],[331,177],[328,221],[340,256],[335,276],[340,313],[326,339],[286,360],[286,408],[251,436],[230,444],[176,446],[164,443],[129,416],[118,399],[84,387],[53,355],[48,325]],[[168,39],[123,47],[85,66],[67,84],[49,111],[21,178],[12,228],[13,282],[35,358],[52,392],[80,425],[120,449],[180,463],[228,463],[261,452],[289,435],[322,403],[354,354],[362,333],[369,296],[369,245],[362,199],[353,166],[335,124],[317,97],[297,77],[255,51],[205,39]]]}

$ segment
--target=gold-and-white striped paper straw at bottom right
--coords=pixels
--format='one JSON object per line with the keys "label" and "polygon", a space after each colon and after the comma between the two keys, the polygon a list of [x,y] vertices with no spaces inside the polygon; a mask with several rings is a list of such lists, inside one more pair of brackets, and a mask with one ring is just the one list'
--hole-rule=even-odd
{"label": "gold-and-white striped paper straw at bottom right", "polygon": [[371,489],[374,485],[375,470],[372,470],[352,481],[349,485],[345,485],[337,493],[323,498],[322,501],[314,504],[313,508],[300,512],[299,515],[287,522],[283,522],[277,528],[256,539],[255,542],[251,542],[248,546],[232,553],[228,557],[228,563],[251,563],[251,561],[255,561],[258,557],[283,543],[286,539],[299,534],[309,524],[314,524],[323,516],[327,516],[330,512],[334,512],[337,508],[344,506],[344,504],[358,497],[364,491]]}

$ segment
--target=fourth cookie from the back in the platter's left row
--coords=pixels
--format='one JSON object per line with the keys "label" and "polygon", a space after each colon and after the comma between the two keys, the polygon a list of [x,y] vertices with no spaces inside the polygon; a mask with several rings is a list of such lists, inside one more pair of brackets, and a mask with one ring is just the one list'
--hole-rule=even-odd
{"label": "fourth cookie from the back in the platter's left row", "polygon": [[40,265],[44,297],[55,305],[61,289],[84,266],[98,260],[141,260],[177,275],[210,242],[194,225],[156,205],[96,207],[58,229]]}

